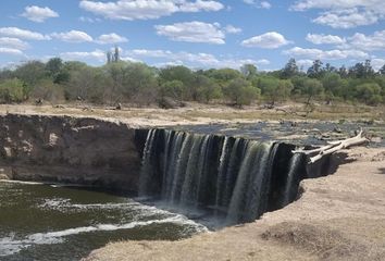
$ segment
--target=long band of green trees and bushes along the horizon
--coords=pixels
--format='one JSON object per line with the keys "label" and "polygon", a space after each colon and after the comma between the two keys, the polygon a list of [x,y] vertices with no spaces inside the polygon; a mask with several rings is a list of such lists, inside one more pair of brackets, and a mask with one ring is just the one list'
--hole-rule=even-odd
{"label": "long band of green trees and bushes along the horizon", "polygon": [[385,65],[375,72],[370,60],[349,69],[315,60],[307,72],[301,72],[296,60],[290,59],[284,69],[274,72],[259,72],[252,64],[239,71],[192,71],[183,65],[157,69],[120,61],[116,49],[99,67],[53,58],[47,63],[29,61],[0,71],[1,103],[46,100],[161,105],[165,101],[197,101],[240,108],[253,102],[274,105],[289,99],[309,107],[314,100],[385,103]]}

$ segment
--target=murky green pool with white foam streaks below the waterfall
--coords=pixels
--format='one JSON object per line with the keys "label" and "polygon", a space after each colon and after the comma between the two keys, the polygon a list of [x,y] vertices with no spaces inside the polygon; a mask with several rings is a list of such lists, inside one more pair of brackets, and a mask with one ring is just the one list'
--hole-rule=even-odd
{"label": "murky green pool with white foam streaks below the waterfall", "polygon": [[176,240],[204,231],[185,215],[126,197],[0,182],[0,260],[79,260],[109,241]]}

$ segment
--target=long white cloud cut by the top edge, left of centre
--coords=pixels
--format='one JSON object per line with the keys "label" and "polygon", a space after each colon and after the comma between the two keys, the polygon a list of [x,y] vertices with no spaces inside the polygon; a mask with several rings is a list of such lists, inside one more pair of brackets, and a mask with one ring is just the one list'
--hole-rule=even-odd
{"label": "long white cloud cut by the top edge, left of centre", "polygon": [[150,20],[177,12],[219,11],[223,4],[208,0],[117,0],[110,2],[82,0],[79,7],[110,20]]}

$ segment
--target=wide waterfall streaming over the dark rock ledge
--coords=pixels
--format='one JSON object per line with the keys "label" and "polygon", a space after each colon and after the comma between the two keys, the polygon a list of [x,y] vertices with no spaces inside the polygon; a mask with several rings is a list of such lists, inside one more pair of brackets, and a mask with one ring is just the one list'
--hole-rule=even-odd
{"label": "wide waterfall streaming over the dark rock ledge", "polygon": [[293,201],[306,175],[294,146],[150,129],[142,152],[140,196],[204,207],[226,224],[258,219]]}

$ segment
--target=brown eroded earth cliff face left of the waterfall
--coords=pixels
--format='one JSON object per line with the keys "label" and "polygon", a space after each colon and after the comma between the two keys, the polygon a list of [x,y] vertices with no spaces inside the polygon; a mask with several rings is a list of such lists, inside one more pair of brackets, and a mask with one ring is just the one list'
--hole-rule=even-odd
{"label": "brown eroded earth cliff face left of the waterfall", "polygon": [[0,116],[0,177],[137,191],[140,142],[125,124],[95,119]]}

